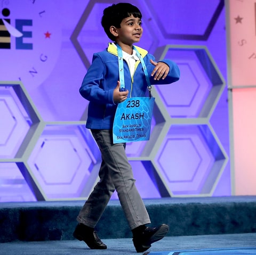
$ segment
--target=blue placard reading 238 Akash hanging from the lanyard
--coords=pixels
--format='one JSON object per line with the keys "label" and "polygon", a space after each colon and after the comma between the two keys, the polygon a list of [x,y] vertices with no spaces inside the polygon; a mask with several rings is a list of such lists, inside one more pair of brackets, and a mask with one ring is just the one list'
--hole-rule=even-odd
{"label": "blue placard reading 238 Akash hanging from the lanyard", "polygon": [[147,141],[150,137],[154,97],[131,97],[116,109],[113,142]]}

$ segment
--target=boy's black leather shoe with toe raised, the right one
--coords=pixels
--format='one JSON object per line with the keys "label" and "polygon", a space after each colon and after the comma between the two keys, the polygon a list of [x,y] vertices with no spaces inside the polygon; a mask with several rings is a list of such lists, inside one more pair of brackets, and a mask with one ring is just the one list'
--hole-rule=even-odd
{"label": "boy's black leather shoe with toe raised, the right one", "polygon": [[134,236],[132,241],[137,252],[143,252],[151,247],[151,243],[161,240],[169,231],[169,226],[146,227],[141,234]]}

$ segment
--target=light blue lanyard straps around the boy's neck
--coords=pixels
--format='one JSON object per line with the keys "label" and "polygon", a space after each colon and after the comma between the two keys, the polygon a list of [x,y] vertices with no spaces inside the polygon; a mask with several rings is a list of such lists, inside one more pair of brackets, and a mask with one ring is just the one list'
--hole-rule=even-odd
{"label": "light blue lanyard straps around the boy's neck", "polygon": [[[125,91],[123,52],[122,52],[122,48],[118,44],[116,44],[116,46],[117,46],[117,55],[118,55],[119,79],[120,79],[120,83],[121,83],[120,88],[121,88],[121,90]],[[146,64],[145,64],[142,56],[138,52],[137,48],[132,46],[132,49],[135,50],[136,55],[139,57],[139,60],[141,62],[142,69],[143,69],[143,72],[144,72],[146,80],[147,80],[149,96],[151,97],[151,94],[150,94],[150,92],[151,92],[151,84],[150,84],[150,80],[149,80],[148,70],[146,68]]]}

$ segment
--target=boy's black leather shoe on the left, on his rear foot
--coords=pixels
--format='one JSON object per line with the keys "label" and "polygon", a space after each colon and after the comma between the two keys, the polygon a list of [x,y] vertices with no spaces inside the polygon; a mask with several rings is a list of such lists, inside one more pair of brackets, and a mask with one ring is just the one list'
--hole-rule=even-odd
{"label": "boy's black leather shoe on the left, on his rear foot", "polygon": [[73,236],[79,241],[84,241],[91,249],[107,249],[107,245],[104,244],[96,231],[88,231],[88,227],[84,224],[78,224],[73,233]]}

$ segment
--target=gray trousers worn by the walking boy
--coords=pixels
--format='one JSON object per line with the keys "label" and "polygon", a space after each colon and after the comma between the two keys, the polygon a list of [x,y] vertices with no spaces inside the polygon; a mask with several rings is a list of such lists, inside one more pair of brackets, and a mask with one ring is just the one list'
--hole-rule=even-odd
{"label": "gray trousers worn by the walking boy", "polygon": [[79,212],[78,223],[94,228],[115,190],[131,229],[150,223],[145,204],[135,186],[125,144],[113,144],[112,130],[91,131],[101,152],[100,181]]}

